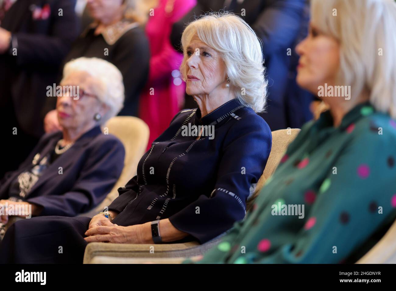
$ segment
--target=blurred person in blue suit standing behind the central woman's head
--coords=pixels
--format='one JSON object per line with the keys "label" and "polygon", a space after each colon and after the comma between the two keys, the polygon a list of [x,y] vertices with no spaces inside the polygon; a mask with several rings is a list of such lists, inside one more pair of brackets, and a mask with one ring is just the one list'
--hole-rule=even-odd
{"label": "blurred person in blue suit standing behind the central woman's head", "polygon": [[[293,59],[296,59],[293,53],[290,55],[288,52],[295,46],[301,28],[308,21],[304,14],[308,6],[307,0],[197,0],[197,2],[198,4],[185,17],[173,25],[171,34],[173,46],[180,49],[180,36],[185,23],[194,20],[194,15],[198,16],[212,10],[236,13],[253,28],[263,44],[268,74],[268,101],[265,112],[260,115],[272,131],[286,128],[292,124],[289,120],[296,120],[294,116],[289,118],[287,114],[295,112],[307,114],[298,118],[297,124],[294,122],[293,126],[296,127],[302,125],[301,120],[309,120],[312,115],[305,107],[309,106],[312,97],[299,95],[303,102],[294,102],[293,106],[296,108],[290,113],[287,110],[286,100],[288,91],[293,89],[288,87],[289,76],[295,75],[295,67],[291,68],[290,65]],[[186,99],[186,103],[190,100],[190,98]]]}

